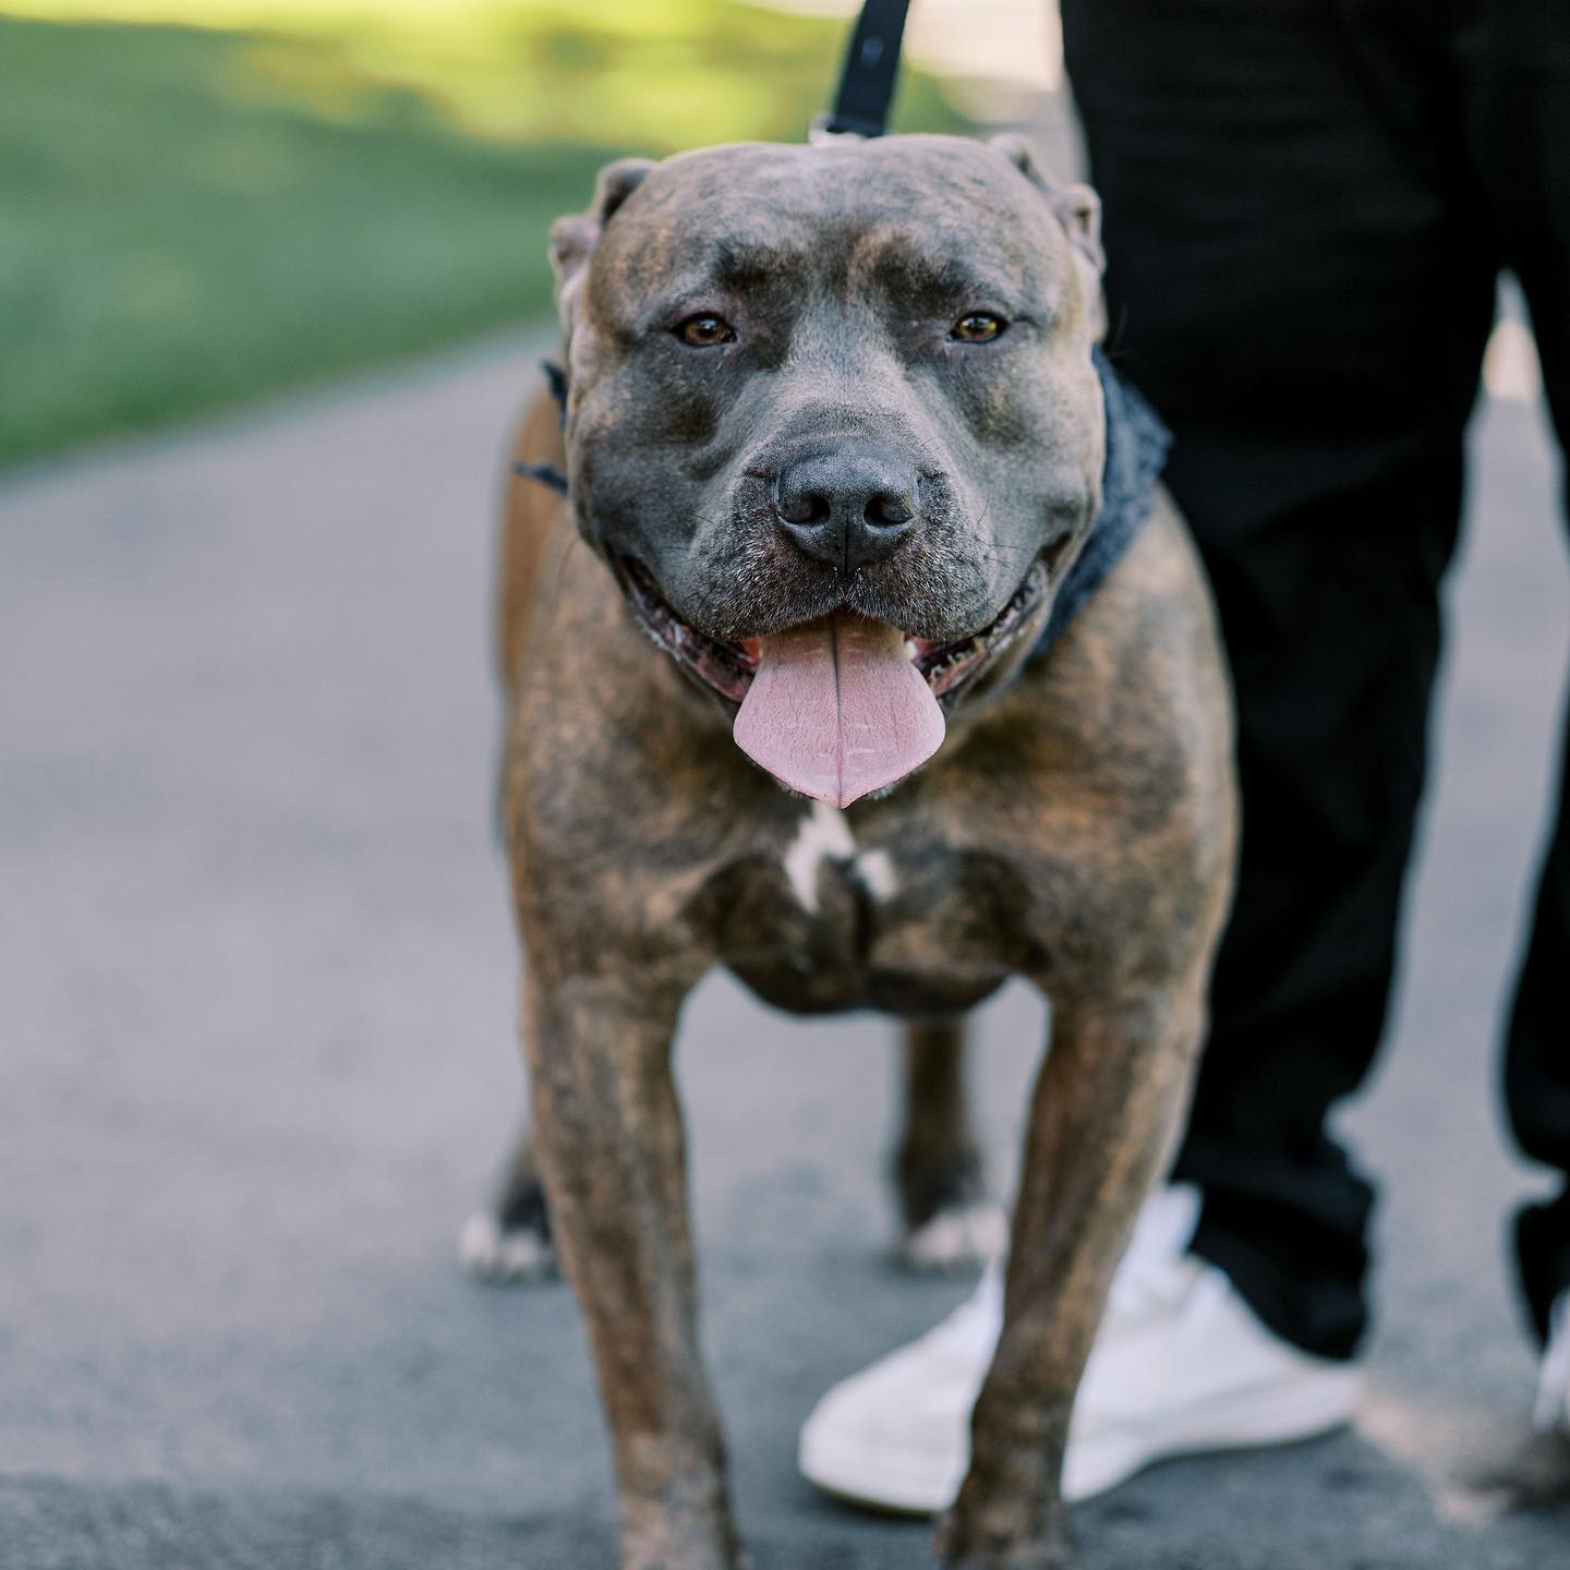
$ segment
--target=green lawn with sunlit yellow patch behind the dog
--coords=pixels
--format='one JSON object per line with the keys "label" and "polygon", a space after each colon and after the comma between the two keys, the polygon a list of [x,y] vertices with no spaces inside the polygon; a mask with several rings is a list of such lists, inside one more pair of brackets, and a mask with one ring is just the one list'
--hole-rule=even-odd
{"label": "green lawn with sunlit yellow patch behind the dog", "polygon": [[[619,8],[487,14],[451,57],[0,17],[0,463],[537,316],[600,163],[796,138],[843,47],[722,0],[655,0],[631,46]],[[953,127],[929,82],[904,97]]]}

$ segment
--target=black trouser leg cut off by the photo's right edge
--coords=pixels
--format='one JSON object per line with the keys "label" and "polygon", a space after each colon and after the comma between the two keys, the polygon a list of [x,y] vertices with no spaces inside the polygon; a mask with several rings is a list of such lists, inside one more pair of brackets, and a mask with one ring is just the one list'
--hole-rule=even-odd
{"label": "black trouser leg cut off by the photo's right edge", "polygon": [[[1488,179],[1506,261],[1531,308],[1559,444],[1570,454],[1570,6],[1477,5],[1455,52],[1474,157]],[[1570,485],[1565,506],[1570,518]],[[1570,1291],[1570,736],[1510,1014],[1504,1086],[1521,1149],[1561,1174],[1559,1193],[1517,1218],[1521,1286],[1546,1338],[1550,1308]]]}

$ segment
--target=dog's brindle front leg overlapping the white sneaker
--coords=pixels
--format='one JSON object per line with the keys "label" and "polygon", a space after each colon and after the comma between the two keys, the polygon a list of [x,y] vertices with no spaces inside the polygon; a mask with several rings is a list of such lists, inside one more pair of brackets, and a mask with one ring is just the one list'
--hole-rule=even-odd
{"label": "dog's brindle front leg overlapping the white sneaker", "polygon": [[1135,1214],[1171,1148],[1201,992],[1055,1000],[1010,1243],[1003,1334],[939,1551],[961,1570],[1064,1570],[1069,1413]]}

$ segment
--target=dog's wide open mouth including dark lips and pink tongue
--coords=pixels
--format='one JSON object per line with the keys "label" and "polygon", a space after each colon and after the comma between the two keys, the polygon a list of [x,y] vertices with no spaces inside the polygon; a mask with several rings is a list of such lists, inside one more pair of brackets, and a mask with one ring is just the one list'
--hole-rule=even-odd
{"label": "dog's wide open mouth including dark lips and pink tongue", "polygon": [[619,576],[644,630],[691,675],[738,705],[736,744],[804,796],[846,807],[920,768],[942,744],[955,694],[1031,623],[1047,592],[1039,559],[980,631],[950,642],[851,609],[727,642],[689,626],[641,562]]}

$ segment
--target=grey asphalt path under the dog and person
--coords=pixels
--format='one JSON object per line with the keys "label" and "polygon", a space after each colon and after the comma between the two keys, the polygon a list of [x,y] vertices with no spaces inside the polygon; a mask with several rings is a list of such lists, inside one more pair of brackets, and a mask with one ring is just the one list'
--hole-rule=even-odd
{"label": "grey asphalt path under the dog and person", "polygon": [[[454,1262],[520,1094],[490,831],[502,344],[0,485],[0,1567],[609,1570],[560,1286]],[[1399,1025],[1349,1116],[1383,1181],[1356,1432],[1170,1463],[1088,1570],[1542,1570],[1493,1039],[1567,653],[1535,410],[1477,427]],[[988,1008],[1006,1181],[1042,1036]],[[761,1570],[907,1570],[798,1424],[966,1284],[890,1264],[893,1058],[722,978],[681,1046],[706,1339]],[[1553,1484],[1553,1476],[1546,1477]]]}

